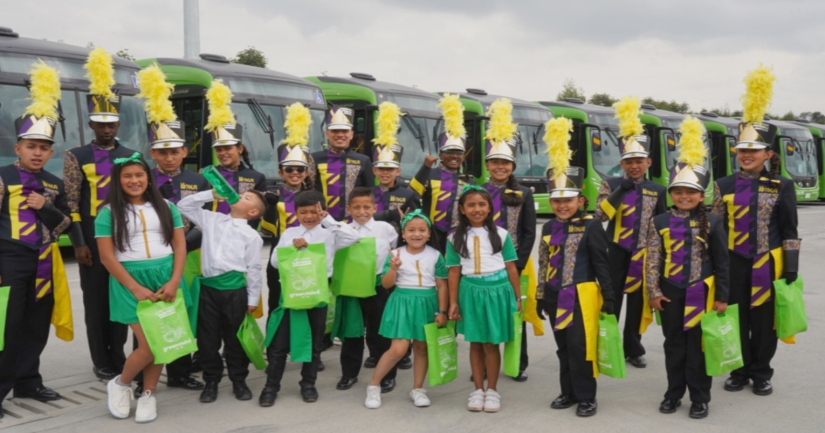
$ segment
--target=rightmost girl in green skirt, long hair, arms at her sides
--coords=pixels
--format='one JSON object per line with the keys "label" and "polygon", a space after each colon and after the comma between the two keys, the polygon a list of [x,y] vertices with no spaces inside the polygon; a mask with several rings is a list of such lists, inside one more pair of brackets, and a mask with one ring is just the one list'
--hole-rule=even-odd
{"label": "rightmost girl in green skirt, long hair, arms at her sides", "polygon": [[[481,186],[464,186],[459,199],[459,224],[447,242],[450,268],[450,319],[469,341],[469,361],[475,391],[467,409],[498,412],[496,390],[502,356],[498,345],[513,339],[513,317],[521,312],[521,288],[516,248],[510,233],[493,221],[493,199]],[[487,371],[487,389],[484,372]]]}

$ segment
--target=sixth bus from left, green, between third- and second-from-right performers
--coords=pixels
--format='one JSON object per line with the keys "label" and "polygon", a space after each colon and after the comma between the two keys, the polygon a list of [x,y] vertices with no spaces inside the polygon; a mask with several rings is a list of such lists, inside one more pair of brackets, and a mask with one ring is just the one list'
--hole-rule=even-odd
{"label": "sixth bus from left, green, between third- and second-from-right performers", "polygon": [[[673,167],[676,165],[676,158],[679,151],[676,143],[679,141],[679,125],[685,116],[675,111],[659,110],[650,104],[642,104],[642,115],[639,116],[644,125],[644,129],[651,138],[650,158],[653,165],[650,166],[648,174],[650,179],[667,186]],[[709,134],[705,131],[705,147],[708,148],[708,158],[705,158],[705,168],[713,179],[713,154],[710,152]],[[714,200],[714,184],[710,182],[705,191],[705,204],[710,205]],[[672,205],[670,195],[667,196],[667,205]]]}

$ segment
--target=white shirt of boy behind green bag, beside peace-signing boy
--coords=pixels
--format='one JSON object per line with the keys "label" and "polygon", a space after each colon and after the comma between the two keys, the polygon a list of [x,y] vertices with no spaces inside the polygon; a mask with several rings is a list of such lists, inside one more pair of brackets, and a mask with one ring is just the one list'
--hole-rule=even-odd
{"label": "white shirt of boy behind green bag, beside peace-signing boy", "polygon": [[[321,224],[314,228],[305,228],[303,225],[298,227],[290,227],[281,233],[281,239],[278,240],[276,248],[292,247],[292,241],[298,238],[304,238],[307,243],[323,243],[327,249],[327,277],[332,277],[332,263],[335,260],[335,252],[344,247],[349,247],[361,235],[356,232],[355,228],[351,228],[347,224],[339,223],[332,215],[327,215],[321,220]],[[278,255],[272,254],[270,263],[277,269]]]}

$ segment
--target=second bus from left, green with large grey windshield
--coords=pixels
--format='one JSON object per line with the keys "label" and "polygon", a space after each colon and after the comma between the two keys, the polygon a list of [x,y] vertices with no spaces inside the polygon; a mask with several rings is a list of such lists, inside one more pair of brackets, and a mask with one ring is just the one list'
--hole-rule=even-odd
{"label": "second bus from left, green with large grey windshield", "polygon": [[158,64],[167,82],[175,85],[172,105],[178,119],[186,124],[186,143],[190,146],[187,167],[200,169],[216,163],[210,134],[204,134],[209,119],[205,95],[214,79],[232,90],[232,112],[238,124],[243,125],[243,145],[249,151],[252,166],[266,175],[270,186],[281,181],[276,148],[286,135],[286,106],[298,101],[309,108],[313,125],[308,146],[310,151],[321,149],[326,103],[321,89],[304,78],[233,64],[216,54],[200,54],[200,59],[141,59],[137,64],[142,68]]}

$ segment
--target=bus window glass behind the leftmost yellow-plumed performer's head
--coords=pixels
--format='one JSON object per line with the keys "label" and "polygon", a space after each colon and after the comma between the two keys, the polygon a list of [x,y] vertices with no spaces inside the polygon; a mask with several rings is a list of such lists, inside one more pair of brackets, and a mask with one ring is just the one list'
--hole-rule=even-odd
{"label": "bus window glass behind the leftmost yellow-plumed performer's head", "polygon": [[[25,86],[12,86],[10,84],[0,84],[0,166],[6,166],[17,160],[14,153],[14,144],[17,143],[17,133],[14,126],[16,117],[26,111],[31,100],[28,99],[29,90]],[[76,148],[83,143],[82,131],[80,128],[80,118],[78,117],[77,92],[64,90],[60,92],[60,105],[63,108],[65,118],[63,127],[55,125],[54,134],[54,154],[46,162],[46,171],[58,177],[63,177],[63,155],[70,148]],[[83,97],[82,106],[86,105],[86,98]],[[66,138],[63,136],[63,129],[66,131]],[[94,135],[92,135],[94,137]],[[88,136],[86,139],[90,139]]]}

